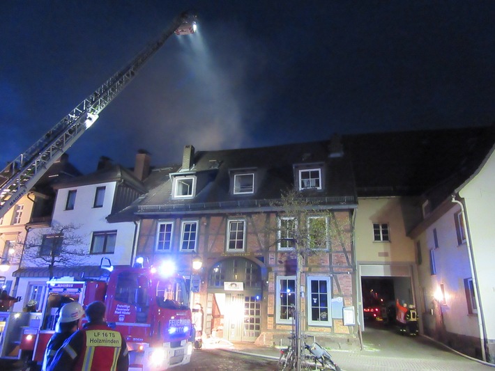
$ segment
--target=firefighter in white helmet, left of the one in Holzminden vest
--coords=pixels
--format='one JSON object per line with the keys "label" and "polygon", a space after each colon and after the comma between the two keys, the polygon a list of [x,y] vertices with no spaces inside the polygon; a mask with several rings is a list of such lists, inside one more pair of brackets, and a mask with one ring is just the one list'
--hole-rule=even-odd
{"label": "firefighter in white helmet, left of the one in Holzminden vest", "polygon": [[45,350],[42,371],[47,370],[50,363],[52,363],[56,351],[60,349],[63,342],[75,333],[77,326],[79,326],[79,319],[82,317],[84,317],[84,308],[77,301],[67,303],[61,308],[60,316],[56,323],[56,332],[50,338],[47,349]]}

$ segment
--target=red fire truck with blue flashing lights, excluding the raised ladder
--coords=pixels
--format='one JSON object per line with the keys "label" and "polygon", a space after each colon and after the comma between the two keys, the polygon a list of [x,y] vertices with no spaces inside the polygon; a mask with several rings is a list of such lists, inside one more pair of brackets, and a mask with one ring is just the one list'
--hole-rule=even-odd
{"label": "red fire truck with blue flashing lights, excluding the raised ladder", "polygon": [[29,321],[13,322],[3,349],[18,358],[32,356],[33,364],[40,365],[62,306],[72,301],[87,306],[100,300],[107,306],[107,323],[127,342],[129,370],[167,370],[189,363],[192,322],[185,280],[168,266],[147,267],[142,262],[138,258],[132,267],[103,267],[109,271],[106,279],[48,281],[43,312],[22,313]]}

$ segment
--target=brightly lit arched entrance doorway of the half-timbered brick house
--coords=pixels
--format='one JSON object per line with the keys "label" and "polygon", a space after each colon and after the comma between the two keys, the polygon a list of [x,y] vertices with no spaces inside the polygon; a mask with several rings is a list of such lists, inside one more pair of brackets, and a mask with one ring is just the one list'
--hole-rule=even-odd
{"label": "brightly lit arched entrance doorway of the half-timbered brick house", "polygon": [[245,258],[215,264],[208,274],[206,333],[254,341],[261,333],[261,270]]}

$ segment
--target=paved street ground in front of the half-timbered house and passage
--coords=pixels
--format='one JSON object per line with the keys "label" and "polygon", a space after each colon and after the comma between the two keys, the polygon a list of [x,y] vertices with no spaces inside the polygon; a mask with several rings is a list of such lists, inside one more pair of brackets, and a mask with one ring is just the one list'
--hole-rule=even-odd
{"label": "paved street ground in front of the half-timbered house and passage", "polygon": [[[367,326],[363,343],[363,351],[333,349],[330,354],[343,371],[495,371],[490,365],[452,352],[428,338],[401,336],[383,324]],[[204,349],[192,354],[189,365],[173,370],[271,371],[277,370],[279,354],[278,349],[249,343],[206,343]],[[20,368],[8,368],[0,362],[0,370]]]}

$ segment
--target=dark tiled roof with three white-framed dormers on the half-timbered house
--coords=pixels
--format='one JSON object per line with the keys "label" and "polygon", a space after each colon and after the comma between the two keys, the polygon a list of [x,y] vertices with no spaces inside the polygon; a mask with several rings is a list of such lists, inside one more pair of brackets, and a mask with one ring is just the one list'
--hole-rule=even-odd
{"label": "dark tiled roof with three white-framed dormers on the half-timbered house", "polygon": [[[347,198],[356,200],[353,175],[347,157],[328,157],[328,141],[298,143],[264,148],[239,150],[200,151],[195,154],[191,169],[198,177],[195,198],[173,199],[172,182],[158,185],[140,201],[139,210],[159,210],[158,205],[189,205],[201,209],[205,205],[221,208],[222,205],[235,207],[258,207],[268,205],[266,200],[280,199],[281,191],[294,187],[295,164],[326,164],[325,187],[322,191],[305,191],[305,196],[326,198],[326,203]],[[230,191],[231,171],[245,169],[256,171],[256,191],[250,195],[234,195]],[[200,180],[200,178],[202,180]],[[204,184],[204,187],[200,184]],[[216,206],[215,206],[216,205]],[[165,210],[165,209],[160,209]],[[181,210],[178,207],[176,210]]]}

